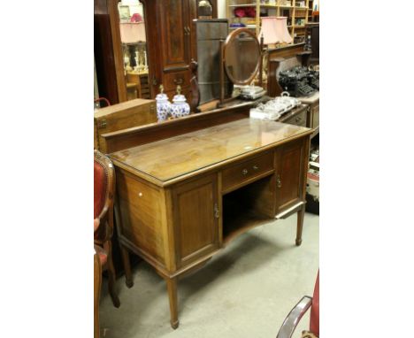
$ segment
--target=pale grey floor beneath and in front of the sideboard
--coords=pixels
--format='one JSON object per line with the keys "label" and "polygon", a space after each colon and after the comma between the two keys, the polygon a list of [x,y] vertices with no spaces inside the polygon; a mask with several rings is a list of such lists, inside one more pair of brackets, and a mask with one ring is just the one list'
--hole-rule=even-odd
{"label": "pale grey floor beneath and in front of the sideboard", "polygon": [[[117,280],[113,307],[103,280],[101,336],[275,337],[291,308],[311,296],[318,273],[319,218],[306,213],[303,243],[295,247],[296,217],[270,222],[234,239],[207,265],[179,281],[180,326],[170,326],[165,281],[146,263],[134,269],[134,287]],[[295,331],[309,327],[309,313]]]}

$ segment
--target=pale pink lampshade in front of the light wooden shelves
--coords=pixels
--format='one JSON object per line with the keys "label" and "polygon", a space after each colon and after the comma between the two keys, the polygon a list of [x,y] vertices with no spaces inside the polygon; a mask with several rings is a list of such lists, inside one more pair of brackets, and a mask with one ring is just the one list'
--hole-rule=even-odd
{"label": "pale pink lampshade in front of the light wooden shelves", "polygon": [[[287,17],[262,18],[262,32],[264,43],[290,43],[293,41],[288,31]],[[260,35],[259,35],[260,36]]]}

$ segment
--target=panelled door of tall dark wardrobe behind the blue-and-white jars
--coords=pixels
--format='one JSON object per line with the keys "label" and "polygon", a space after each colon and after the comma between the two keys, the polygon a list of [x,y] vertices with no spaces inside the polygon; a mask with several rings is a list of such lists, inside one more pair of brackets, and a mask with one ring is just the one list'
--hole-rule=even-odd
{"label": "panelled door of tall dark wardrobe behind the blue-and-white jars", "polygon": [[190,62],[190,33],[188,1],[162,0],[159,18],[162,27],[164,70],[188,66]]}

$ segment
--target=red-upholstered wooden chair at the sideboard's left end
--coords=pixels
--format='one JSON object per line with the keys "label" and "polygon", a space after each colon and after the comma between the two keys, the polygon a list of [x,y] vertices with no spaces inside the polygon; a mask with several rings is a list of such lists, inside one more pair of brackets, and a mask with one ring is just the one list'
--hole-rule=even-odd
{"label": "red-upholstered wooden chair at the sideboard's left end", "polygon": [[102,269],[108,271],[108,288],[112,303],[119,307],[115,292],[115,268],[112,262],[111,237],[113,234],[113,198],[115,171],[111,160],[98,150],[94,151],[94,219],[99,227],[94,231],[94,243]]}

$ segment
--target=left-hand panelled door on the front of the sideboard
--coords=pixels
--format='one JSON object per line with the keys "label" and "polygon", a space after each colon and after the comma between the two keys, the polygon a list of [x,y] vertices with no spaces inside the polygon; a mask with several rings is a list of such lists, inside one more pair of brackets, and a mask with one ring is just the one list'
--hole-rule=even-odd
{"label": "left-hand panelled door on the front of the sideboard", "polygon": [[177,268],[219,249],[217,174],[173,189]]}

